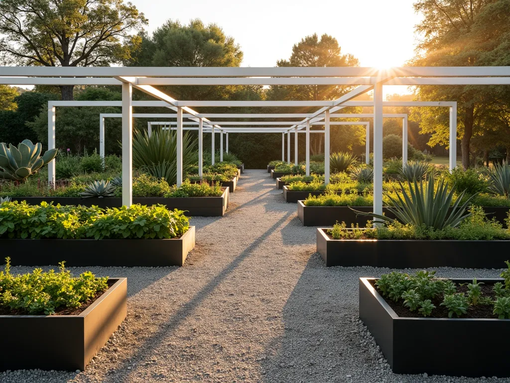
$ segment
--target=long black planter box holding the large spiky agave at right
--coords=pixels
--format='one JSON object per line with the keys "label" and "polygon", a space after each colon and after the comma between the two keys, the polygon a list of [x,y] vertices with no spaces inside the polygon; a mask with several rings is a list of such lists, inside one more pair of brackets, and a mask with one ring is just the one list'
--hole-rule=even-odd
{"label": "long black planter box holding the large spiky agave at right", "polygon": [[510,246],[510,241],[333,240],[326,230],[317,228],[317,252],[326,266],[499,269]]}

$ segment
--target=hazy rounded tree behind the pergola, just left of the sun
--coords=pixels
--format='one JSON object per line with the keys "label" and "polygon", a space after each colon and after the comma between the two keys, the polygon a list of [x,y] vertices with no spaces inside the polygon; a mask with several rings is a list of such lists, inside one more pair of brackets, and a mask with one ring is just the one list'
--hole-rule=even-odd
{"label": "hazy rounded tree behind the pergola, just left of the sun", "polygon": [[[338,41],[333,36],[323,34],[320,39],[317,34],[306,36],[292,47],[292,55],[289,60],[278,60],[277,66],[358,66],[359,61],[350,54],[342,54]],[[347,93],[352,87],[336,85],[303,85],[303,86],[272,86],[268,91],[269,100],[334,100]],[[346,109],[348,110],[348,109]],[[353,110],[353,109],[351,109]],[[293,112],[307,113],[313,111],[310,108]],[[353,129],[363,129],[356,127]],[[352,128],[343,129],[349,131]],[[353,140],[350,146],[360,142],[356,137],[364,137],[364,134],[349,135]],[[322,153],[323,134],[314,134],[310,138],[310,150],[312,154]],[[332,141],[333,143],[333,141]]]}

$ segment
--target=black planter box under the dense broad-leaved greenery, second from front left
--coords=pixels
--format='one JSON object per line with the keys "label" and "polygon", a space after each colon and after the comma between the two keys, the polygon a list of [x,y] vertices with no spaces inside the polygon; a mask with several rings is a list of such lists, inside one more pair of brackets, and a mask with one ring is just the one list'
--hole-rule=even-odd
{"label": "black planter box under the dense broad-leaved greenery, second from front left", "polygon": [[13,266],[58,265],[66,267],[162,267],[183,266],[195,247],[195,226],[180,238],[134,240],[21,240],[0,239],[5,254],[16,253]]}

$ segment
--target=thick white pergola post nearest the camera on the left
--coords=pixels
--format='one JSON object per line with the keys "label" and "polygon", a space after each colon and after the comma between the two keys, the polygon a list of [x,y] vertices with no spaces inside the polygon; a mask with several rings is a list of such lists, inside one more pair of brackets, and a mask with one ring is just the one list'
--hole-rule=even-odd
{"label": "thick white pergola post nearest the camera on the left", "polygon": [[133,204],[133,86],[122,83],[122,205]]}

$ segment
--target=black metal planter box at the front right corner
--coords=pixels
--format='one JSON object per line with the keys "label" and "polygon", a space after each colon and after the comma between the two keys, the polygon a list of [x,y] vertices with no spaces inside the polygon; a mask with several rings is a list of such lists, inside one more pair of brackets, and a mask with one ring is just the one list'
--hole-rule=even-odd
{"label": "black metal planter box at the front right corner", "polygon": [[[471,279],[452,280],[472,282]],[[399,317],[374,288],[373,281],[374,278],[360,278],[360,319],[372,333],[393,372],[510,376],[505,341],[510,337],[510,319]],[[477,281],[494,283],[503,279]]]}

